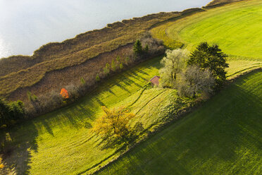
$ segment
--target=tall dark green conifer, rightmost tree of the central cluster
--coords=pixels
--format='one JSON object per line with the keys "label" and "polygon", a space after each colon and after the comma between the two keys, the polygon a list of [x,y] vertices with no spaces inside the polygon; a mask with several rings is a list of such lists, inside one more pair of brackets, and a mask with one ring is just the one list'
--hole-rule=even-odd
{"label": "tall dark green conifer, rightmost tree of the central cluster", "polygon": [[202,70],[209,68],[216,78],[217,85],[225,80],[227,73],[225,68],[228,68],[226,63],[227,55],[221,52],[217,44],[209,46],[207,42],[201,42],[189,57],[187,65],[192,66],[195,64]]}

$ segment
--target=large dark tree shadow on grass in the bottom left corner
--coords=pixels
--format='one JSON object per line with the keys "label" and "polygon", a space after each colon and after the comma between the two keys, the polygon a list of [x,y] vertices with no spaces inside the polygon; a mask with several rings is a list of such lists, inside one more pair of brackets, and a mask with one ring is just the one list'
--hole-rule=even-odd
{"label": "large dark tree shadow on grass in the bottom left corner", "polygon": [[5,169],[13,169],[16,174],[27,174],[31,151],[37,152],[38,148],[35,124],[27,121],[26,125],[2,129],[0,133],[1,157]]}

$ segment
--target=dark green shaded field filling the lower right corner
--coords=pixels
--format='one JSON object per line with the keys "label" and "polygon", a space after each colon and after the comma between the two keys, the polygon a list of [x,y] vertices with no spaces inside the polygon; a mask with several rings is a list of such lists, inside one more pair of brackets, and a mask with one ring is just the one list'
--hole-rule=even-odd
{"label": "dark green shaded field filling the lower right corner", "polygon": [[262,174],[262,71],[239,78],[99,174]]}

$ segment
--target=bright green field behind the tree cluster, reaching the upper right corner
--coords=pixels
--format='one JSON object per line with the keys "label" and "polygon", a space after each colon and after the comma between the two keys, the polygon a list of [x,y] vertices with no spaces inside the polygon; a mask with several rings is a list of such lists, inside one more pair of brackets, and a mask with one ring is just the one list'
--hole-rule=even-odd
{"label": "bright green field behind the tree cluster, reaching the upper right corner", "polygon": [[[227,76],[262,66],[262,1],[240,1],[207,9],[151,30],[170,48],[190,51],[199,42],[218,44],[230,56]],[[232,76],[233,77],[233,76]]]}

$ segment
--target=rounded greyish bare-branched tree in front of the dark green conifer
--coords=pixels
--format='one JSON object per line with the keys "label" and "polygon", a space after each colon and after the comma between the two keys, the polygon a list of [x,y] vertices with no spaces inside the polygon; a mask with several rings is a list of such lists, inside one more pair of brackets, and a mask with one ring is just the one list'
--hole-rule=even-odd
{"label": "rounded greyish bare-branched tree in front of the dark green conifer", "polygon": [[182,73],[178,92],[186,97],[196,97],[196,94],[213,91],[215,78],[209,69],[204,71],[199,66],[188,66]]}

